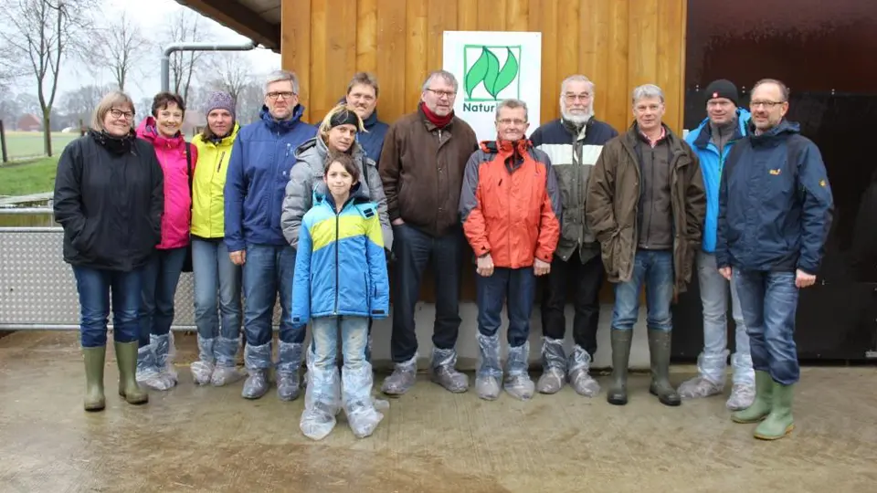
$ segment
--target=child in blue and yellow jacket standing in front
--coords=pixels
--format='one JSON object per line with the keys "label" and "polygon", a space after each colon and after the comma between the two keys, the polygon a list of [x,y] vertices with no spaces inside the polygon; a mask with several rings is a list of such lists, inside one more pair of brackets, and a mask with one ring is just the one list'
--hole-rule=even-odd
{"label": "child in blue and yellow jacket standing in front", "polygon": [[[314,440],[333,430],[340,404],[360,438],[371,435],[384,418],[372,403],[372,365],[365,347],[368,319],[386,318],[389,311],[389,282],[377,205],[368,201],[358,180],[353,158],[332,156],[299,230],[292,323],[313,321],[300,427]],[[335,363],[339,328],[340,378]]]}

